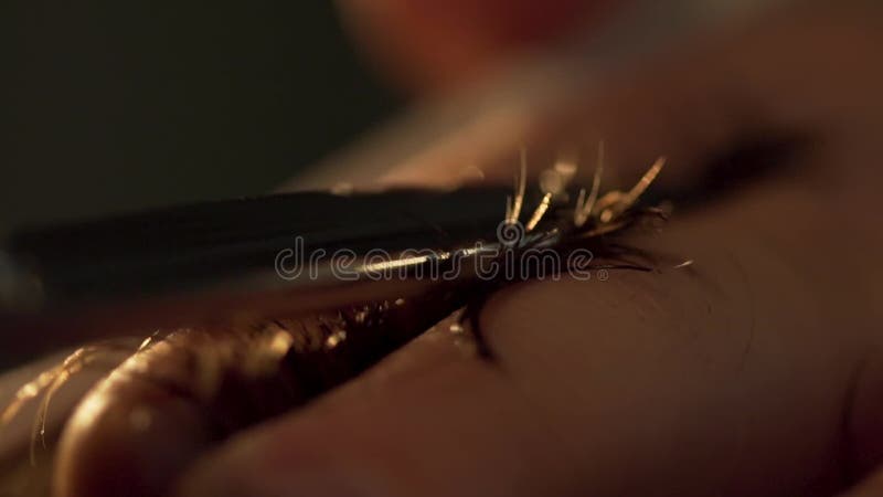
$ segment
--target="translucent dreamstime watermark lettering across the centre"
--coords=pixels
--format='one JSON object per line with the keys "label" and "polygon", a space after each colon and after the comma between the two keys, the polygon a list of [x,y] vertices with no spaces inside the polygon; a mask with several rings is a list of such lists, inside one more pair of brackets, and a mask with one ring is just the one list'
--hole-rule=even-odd
{"label": "translucent dreamstime watermark lettering across the centre", "polygon": [[[329,252],[306,248],[302,236],[276,254],[276,274],[286,281],[333,277],[344,282],[360,279],[455,281],[475,276],[482,281],[574,279],[606,281],[606,269],[595,271],[587,248],[562,252],[552,248],[554,235],[529,233],[520,222],[502,222],[497,243],[476,242],[456,251],[408,248],[391,253],[372,248],[359,254],[350,248]],[[594,274],[593,274],[594,273]]]}

